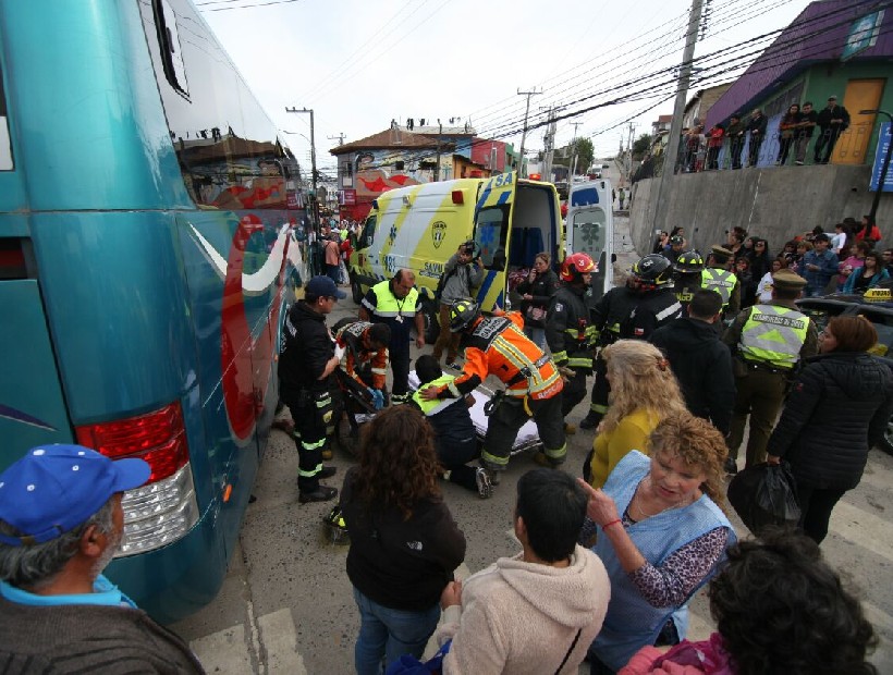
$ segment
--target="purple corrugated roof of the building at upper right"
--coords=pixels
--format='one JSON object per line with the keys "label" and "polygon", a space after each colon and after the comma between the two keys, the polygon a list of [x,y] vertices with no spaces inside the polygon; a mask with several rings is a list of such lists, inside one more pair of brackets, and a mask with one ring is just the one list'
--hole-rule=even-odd
{"label": "purple corrugated roof of the building at upper right", "polygon": [[[775,38],[710,109],[707,126],[748,111],[816,63],[840,61],[856,20],[872,13],[877,0],[812,2]],[[877,41],[853,61],[893,56],[893,12],[884,12]]]}

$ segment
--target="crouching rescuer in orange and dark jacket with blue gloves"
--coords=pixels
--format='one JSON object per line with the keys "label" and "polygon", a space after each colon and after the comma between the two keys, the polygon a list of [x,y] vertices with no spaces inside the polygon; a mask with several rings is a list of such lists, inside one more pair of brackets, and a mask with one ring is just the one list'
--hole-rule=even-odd
{"label": "crouching rescuer in orange and dark jacket with blue gloves", "polygon": [[350,317],[332,327],[335,354],[346,356],[342,369],[360,386],[368,390],[375,408],[384,407],[388,376],[388,344],[391,329],[387,323],[358,321]]}

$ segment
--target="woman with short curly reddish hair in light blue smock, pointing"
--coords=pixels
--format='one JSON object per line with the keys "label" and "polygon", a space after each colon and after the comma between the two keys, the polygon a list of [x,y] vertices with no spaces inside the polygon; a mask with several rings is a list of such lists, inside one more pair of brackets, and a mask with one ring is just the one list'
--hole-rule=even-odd
{"label": "woman with short curly reddish hair in light blue smock, pointing", "polygon": [[627,454],[603,490],[579,480],[596,526],[592,550],[611,577],[608,615],[589,648],[598,675],[615,673],[647,645],[684,638],[688,601],[736,539],[722,511],[722,434],[682,414],[661,421],[650,444],[650,458]]}

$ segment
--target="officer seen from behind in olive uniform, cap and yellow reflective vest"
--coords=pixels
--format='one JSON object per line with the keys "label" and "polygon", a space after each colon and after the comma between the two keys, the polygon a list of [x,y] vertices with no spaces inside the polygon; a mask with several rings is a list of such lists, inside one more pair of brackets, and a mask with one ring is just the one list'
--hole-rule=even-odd
{"label": "officer seen from behind in olive uniform, cap and yellow reflective vest", "polygon": [[735,359],[735,407],[726,439],[725,470],[737,472],[738,449],[750,415],[746,466],[766,462],[766,444],[779,416],[785,390],[802,359],[819,349],[816,324],[794,303],[806,280],[790,270],[772,275],[772,300],[742,311],[722,341]]}

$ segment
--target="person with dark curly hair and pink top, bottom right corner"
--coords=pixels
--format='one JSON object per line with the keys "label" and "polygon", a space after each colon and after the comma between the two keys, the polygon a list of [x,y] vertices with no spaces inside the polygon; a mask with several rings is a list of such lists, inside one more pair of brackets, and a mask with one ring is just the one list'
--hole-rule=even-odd
{"label": "person with dark curly hair and pink top, bottom right corner", "polygon": [[874,675],[878,642],[859,601],[808,538],[764,531],[729,550],[707,589],[718,633],[665,653],[643,648],[620,675]]}

